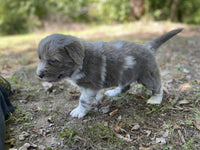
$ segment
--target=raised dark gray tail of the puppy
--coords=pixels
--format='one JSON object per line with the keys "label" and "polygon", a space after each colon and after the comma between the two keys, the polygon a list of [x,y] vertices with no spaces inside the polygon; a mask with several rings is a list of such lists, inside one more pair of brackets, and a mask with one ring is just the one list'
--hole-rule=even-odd
{"label": "raised dark gray tail of the puppy", "polygon": [[159,36],[158,38],[156,38],[155,40],[145,44],[145,46],[149,49],[151,49],[152,51],[156,52],[156,50],[163,44],[165,43],[167,40],[169,40],[170,38],[172,38],[174,35],[178,34],[179,32],[181,32],[183,30],[183,28],[179,28],[176,30],[172,30],[169,31],[161,36]]}

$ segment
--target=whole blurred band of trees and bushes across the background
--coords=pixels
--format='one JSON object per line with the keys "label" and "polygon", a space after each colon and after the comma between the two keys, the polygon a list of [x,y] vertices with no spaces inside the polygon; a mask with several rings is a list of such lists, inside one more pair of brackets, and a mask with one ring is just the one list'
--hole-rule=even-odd
{"label": "whole blurred band of trees and bushes across the background", "polygon": [[200,0],[0,0],[0,3],[1,34],[29,32],[50,20],[123,23],[152,18],[200,24]]}

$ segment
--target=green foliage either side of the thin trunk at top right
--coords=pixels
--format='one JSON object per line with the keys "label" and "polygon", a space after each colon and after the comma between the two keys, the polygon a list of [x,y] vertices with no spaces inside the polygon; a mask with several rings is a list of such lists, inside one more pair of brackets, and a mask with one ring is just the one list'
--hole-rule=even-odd
{"label": "green foliage either side of the thin trunk at top right", "polygon": [[[146,1],[148,15],[155,20],[166,20],[170,18],[173,0],[151,0]],[[176,12],[176,21],[185,23],[200,23],[200,0],[179,0]]]}

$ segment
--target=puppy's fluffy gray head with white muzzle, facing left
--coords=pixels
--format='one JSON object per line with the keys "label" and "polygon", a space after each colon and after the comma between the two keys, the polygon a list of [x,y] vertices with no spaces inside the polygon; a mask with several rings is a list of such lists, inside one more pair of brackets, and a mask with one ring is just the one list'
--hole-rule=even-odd
{"label": "puppy's fluffy gray head with white muzzle, facing left", "polygon": [[70,77],[82,65],[84,48],[73,36],[52,34],[41,40],[37,54],[37,76],[44,81],[56,82]]}

